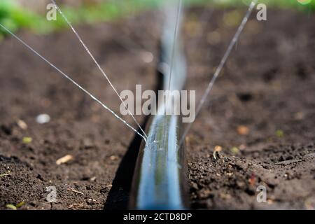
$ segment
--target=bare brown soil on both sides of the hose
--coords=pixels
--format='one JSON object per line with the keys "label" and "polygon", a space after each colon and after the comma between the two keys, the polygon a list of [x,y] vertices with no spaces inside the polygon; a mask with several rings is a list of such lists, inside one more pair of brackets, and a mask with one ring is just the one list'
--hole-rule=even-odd
{"label": "bare brown soil on both sides of the hose", "polygon": [[[209,10],[202,22],[202,8],[186,14],[188,89],[197,99],[237,29],[223,22],[230,11]],[[155,88],[160,25],[153,15],[78,27],[118,92]],[[267,16],[248,21],[186,138],[193,209],[314,209],[315,18],[288,10]],[[119,113],[118,97],[71,31],[18,35]],[[20,202],[20,209],[127,208],[134,132],[13,38],[0,48],[0,209]],[[153,62],[144,62],[144,49]],[[41,113],[49,123],[36,123]],[[57,165],[65,155],[72,160]],[[46,201],[48,186],[57,202]],[[258,186],[266,203],[256,200]]]}

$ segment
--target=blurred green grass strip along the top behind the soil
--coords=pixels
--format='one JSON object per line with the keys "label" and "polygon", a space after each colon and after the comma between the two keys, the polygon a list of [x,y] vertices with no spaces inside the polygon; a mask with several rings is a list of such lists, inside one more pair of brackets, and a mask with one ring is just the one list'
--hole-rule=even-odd
{"label": "blurred green grass strip along the top behind the soil", "polygon": [[[251,0],[184,0],[186,4],[194,5],[214,5],[216,7],[231,6],[240,7],[251,2]],[[99,4],[83,4],[77,8],[63,6],[64,14],[73,24],[93,23],[113,20],[130,13],[137,13],[148,8],[155,8],[160,5],[161,0],[116,0],[104,1]],[[315,0],[260,0],[260,3],[266,3],[267,6],[277,8],[293,8],[307,12],[315,11]],[[50,21],[46,20],[45,15],[39,15],[31,10],[22,8],[13,0],[0,1],[0,22],[12,31],[25,28],[38,34],[47,34],[51,31],[66,27],[64,20]],[[5,31],[0,29],[0,38]]]}

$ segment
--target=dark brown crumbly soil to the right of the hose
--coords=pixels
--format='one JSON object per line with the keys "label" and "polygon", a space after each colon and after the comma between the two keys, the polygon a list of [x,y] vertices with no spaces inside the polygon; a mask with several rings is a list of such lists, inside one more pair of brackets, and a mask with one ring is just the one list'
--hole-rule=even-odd
{"label": "dark brown crumbly soil to the right of the hose", "polygon": [[[220,27],[220,16],[213,18],[216,22],[209,23],[207,30],[218,29],[220,44],[202,41],[202,52],[188,48],[192,90],[204,90],[232,37],[232,29],[225,32]],[[311,20],[314,15],[269,11],[267,22],[249,21],[188,136],[193,208],[314,208],[315,26]],[[248,128],[248,134],[237,132],[241,126]],[[217,160],[215,146],[223,148]],[[267,188],[267,203],[257,202],[258,186]]]}

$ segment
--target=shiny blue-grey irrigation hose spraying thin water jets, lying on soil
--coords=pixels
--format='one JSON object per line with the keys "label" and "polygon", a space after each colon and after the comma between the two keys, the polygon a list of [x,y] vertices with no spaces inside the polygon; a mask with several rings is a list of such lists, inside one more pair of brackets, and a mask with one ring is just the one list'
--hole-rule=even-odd
{"label": "shiny blue-grey irrigation hose spraying thin water jets, lying on soil", "polygon": [[[174,27],[181,27],[178,11],[168,9],[165,15],[159,64],[172,67],[172,71],[162,70],[164,90],[180,91],[186,83],[186,58],[181,40],[174,38]],[[151,117],[148,139],[142,142],[134,172],[130,209],[186,209],[186,162],[184,146],[179,144],[183,134],[181,116],[163,113],[168,106],[162,104],[158,108],[160,113]]]}

